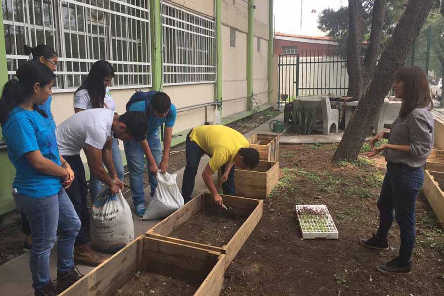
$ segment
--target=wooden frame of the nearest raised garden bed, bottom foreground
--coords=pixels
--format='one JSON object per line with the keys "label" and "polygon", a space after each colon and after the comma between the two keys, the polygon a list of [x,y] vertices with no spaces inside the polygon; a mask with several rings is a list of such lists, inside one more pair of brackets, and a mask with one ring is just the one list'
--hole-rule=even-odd
{"label": "wooden frame of the nearest raised garden bed, bottom foreground", "polygon": [[218,252],[141,235],[59,296],[112,296],[139,271],[197,285],[194,296],[219,295],[225,257]]}

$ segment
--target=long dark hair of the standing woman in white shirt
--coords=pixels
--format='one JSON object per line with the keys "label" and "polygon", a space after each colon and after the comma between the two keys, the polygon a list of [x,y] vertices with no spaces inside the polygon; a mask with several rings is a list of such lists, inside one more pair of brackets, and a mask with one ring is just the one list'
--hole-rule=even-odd
{"label": "long dark hair of the standing woman in white shirt", "polygon": [[114,68],[108,61],[97,61],[91,66],[85,81],[83,81],[82,85],[75,91],[77,93],[81,89],[86,89],[91,100],[92,108],[103,108],[104,106],[103,100],[105,98],[106,87],[103,85],[103,79],[105,77],[113,78]]}

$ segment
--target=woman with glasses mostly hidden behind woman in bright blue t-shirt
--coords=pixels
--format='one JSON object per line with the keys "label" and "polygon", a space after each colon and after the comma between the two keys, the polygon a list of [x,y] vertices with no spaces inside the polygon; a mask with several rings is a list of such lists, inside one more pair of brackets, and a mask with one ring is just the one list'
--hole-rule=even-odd
{"label": "woman with glasses mostly hidden behind woman in bright blue t-shirt", "polygon": [[[58,55],[48,45],[40,44],[36,47],[29,47],[28,45],[25,45],[23,47],[23,50],[27,56],[30,57],[31,60],[38,60],[40,63],[48,66],[49,69],[52,71],[57,70],[57,59]],[[38,108],[40,108],[42,111],[48,115],[48,119],[52,120],[52,124],[54,125],[54,128],[56,126],[54,122],[54,117],[52,116],[51,112],[51,102],[52,102],[52,96],[49,95],[48,100],[44,102],[41,105],[38,105]],[[22,227],[23,227],[23,234],[26,235],[25,241],[23,242],[23,251],[25,252],[31,252],[31,229],[29,228],[29,222],[26,219],[25,214],[21,213],[22,215]]]}

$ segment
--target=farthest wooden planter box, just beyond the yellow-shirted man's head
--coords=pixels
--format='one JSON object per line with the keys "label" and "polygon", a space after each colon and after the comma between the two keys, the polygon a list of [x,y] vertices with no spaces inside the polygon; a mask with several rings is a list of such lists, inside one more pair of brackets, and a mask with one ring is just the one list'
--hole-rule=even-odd
{"label": "farthest wooden planter box, just beyond the yellow-shirted man's head", "polygon": [[251,148],[258,150],[260,160],[278,161],[279,139],[280,135],[254,134],[247,140]]}

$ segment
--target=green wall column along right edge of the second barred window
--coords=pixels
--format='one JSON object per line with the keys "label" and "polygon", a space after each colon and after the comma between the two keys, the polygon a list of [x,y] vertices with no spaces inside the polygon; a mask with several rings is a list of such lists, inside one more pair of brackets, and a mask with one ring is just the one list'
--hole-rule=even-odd
{"label": "green wall column along right edge of the second barred window", "polygon": [[[215,0],[215,30],[216,30],[216,85],[215,101],[222,101],[222,19],[221,19],[221,1]],[[217,107],[222,118],[222,106]]]}

